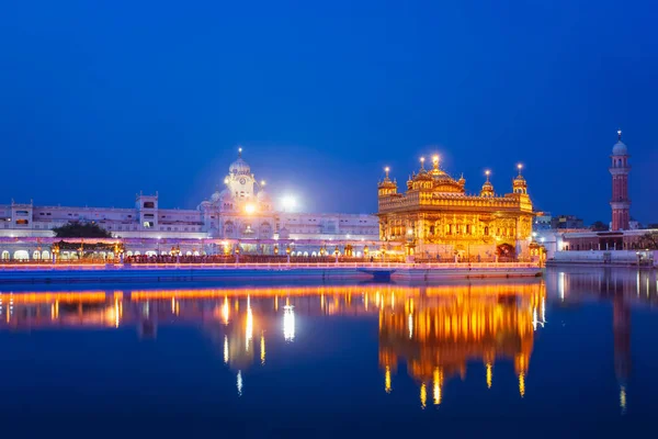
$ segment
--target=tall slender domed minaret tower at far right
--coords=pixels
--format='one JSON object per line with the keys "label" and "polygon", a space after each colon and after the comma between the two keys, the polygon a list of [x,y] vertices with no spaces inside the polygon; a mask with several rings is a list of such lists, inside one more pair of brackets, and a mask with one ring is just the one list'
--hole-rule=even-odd
{"label": "tall slender domed minaret tower at far right", "polygon": [[617,143],[612,147],[612,166],[610,173],[612,175],[612,230],[627,230],[631,210],[631,200],[628,200],[628,149],[622,142],[622,131],[617,131]]}

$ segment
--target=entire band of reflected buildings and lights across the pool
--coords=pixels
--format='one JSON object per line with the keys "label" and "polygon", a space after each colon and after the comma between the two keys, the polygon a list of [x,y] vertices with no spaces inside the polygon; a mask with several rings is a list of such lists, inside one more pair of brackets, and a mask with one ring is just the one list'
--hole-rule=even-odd
{"label": "entire band of reflected buildings and lights across the pool", "polygon": [[284,346],[277,340],[295,342],[304,336],[296,334],[296,318],[366,315],[378,318],[384,391],[395,393],[398,363],[404,362],[426,408],[428,398],[435,406],[450,402],[445,383],[457,375],[464,380],[468,367],[481,364],[479,383],[491,389],[497,362],[506,361],[513,364],[514,392],[524,397],[526,383],[533,381],[529,381],[529,368],[536,331],[548,327],[547,302],[561,307],[605,300],[613,308],[614,370],[620,409],[625,413],[631,307],[657,304],[656,286],[653,272],[549,270],[545,281],[440,286],[3,292],[0,329],[133,327],[139,338],[157,338],[159,325],[194,325],[216,346],[242,395],[247,371],[254,364],[269,364],[265,347],[276,358]]}

